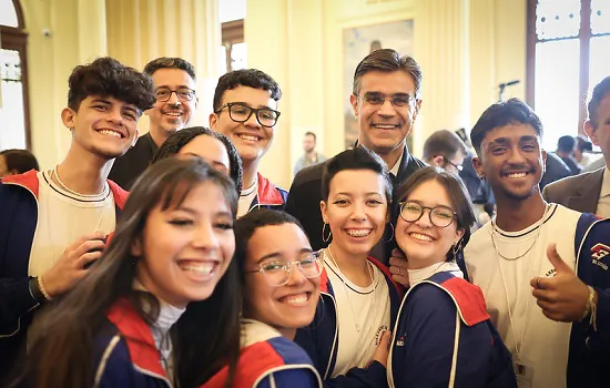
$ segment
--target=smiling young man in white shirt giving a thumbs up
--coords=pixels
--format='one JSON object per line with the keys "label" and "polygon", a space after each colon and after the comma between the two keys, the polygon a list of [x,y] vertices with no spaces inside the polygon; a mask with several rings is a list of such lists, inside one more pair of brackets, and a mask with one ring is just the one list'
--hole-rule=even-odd
{"label": "smiling young man in white shirt giving a thumbs up", "polygon": [[519,387],[609,387],[610,222],[542,200],[541,136],[540,120],[517,99],[488,108],[472,129],[472,164],[497,216],[466,247],[468,275]]}

